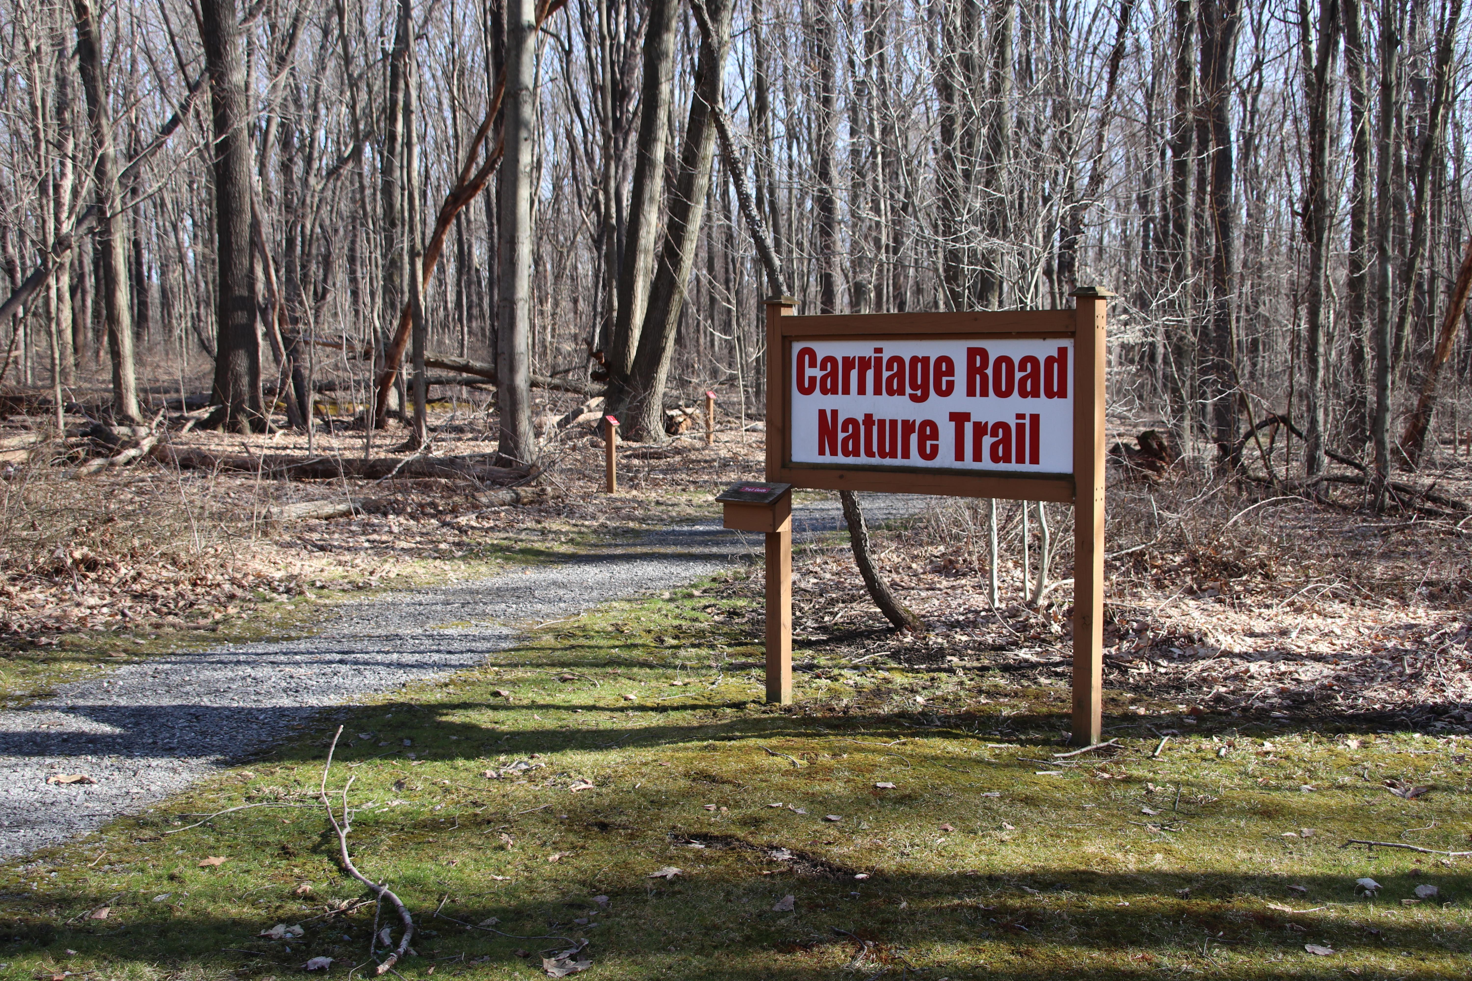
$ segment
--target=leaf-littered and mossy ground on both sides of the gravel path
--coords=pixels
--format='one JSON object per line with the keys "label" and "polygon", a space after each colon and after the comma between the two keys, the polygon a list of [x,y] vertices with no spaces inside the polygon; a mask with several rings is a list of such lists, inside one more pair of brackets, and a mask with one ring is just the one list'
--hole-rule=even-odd
{"label": "leaf-littered and mossy ground on both sides of the gravel path", "polygon": [[[714,516],[760,434],[646,456],[615,497],[583,438],[548,504],[393,481],[384,513],[284,532],[227,515],[340,488],[152,463],[69,485],[12,474],[9,703],[106,681],[115,660],[303,634],[365,590]],[[1435,479],[1472,497],[1460,460]],[[68,513],[85,516],[69,538]],[[760,703],[754,568],[654,584],[0,865],[0,977],[266,978],[312,957],[371,974],[389,915],[355,906],[315,803],[339,724],[328,785],[355,812],[355,859],[424,931],[403,977],[546,977],[573,949],[608,978],[1463,977],[1472,877],[1444,853],[1472,850],[1466,522],[1191,472],[1111,474],[1108,515],[1110,749],[1055,756],[1069,597],[1022,602],[1020,509],[1002,507],[994,610],[980,509],[951,502],[876,537],[926,637],[888,628],[842,537],[799,550],[790,707]],[[1066,575],[1072,529],[1051,519]],[[49,569],[62,541],[96,562]]]}

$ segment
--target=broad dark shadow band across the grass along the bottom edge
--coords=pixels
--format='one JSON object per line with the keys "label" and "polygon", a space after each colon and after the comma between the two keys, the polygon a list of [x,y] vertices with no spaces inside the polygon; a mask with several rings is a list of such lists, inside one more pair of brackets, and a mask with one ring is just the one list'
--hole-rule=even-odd
{"label": "broad dark shadow band across the grass along the bottom edge", "polygon": [[[316,852],[325,857],[331,850],[324,837]],[[518,963],[518,947],[559,949],[584,937],[604,968],[623,962],[626,969],[652,971],[683,963],[696,971],[684,977],[733,981],[829,977],[860,955],[868,972],[885,960],[898,969],[907,957],[923,959],[927,977],[936,978],[957,971],[972,977],[964,972],[982,966],[985,977],[1001,978],[1158,977],[1161,959],[1176,966],[1182,959],[1207,965],[1223,955],[1238,959],[1238,977],[1282,977],[1288,971],[1275,972],[1263,959],[1284,957],[1301,962],[1292,977],[1341,978],[1342,965],[1314,966],[1319,962],[1304,953],[1304,944],[1422,959],[1466,952],[1465,940],[1440,918],[1391,921],[1382,915],[1384,905],[1376,907],[1369,899],[1357,900],[1362,909],[1344,906],[1354,902],[1344,878],[1058,868],[1016,875],[874,872],[855,881],[839,871],[795,875],[768,855],[760,847],[707,849],[702,857],[714,862],[689,878],[654,880],[655,885],[646,878],[648,862],[617,859],[598,871],[567,868],[551,885],[512,882],[495,896],[461,897],[422,875],[399,880],[394,885],[411,897],[418,927],[437,934],[418,938],[421,957],[405,969],[456,955]],[[475,863],[473,853],[464,857]],[[1448,893],[1468,887],[1465,875],[1431,874],[1416,881]],[[1289,885],[1306,887],[1307,896]],[[783,894],[796,896],[793,912],[773,910]],[[415,896],[424,899],[415,903]],[[593,896],[608,902],[595,903]],[[1341,905],[1334,912],[1314,909],[1326,900]],[[319,955],[346,965],[365,959],[372,930],[371,906],[330,919],[303,918],[305,937],[281,943],[256,935],[281,919],[269,910],[203,916],[146,897],[130,902],[102,893],[68,902],[82,913],[112,903],[113,922],[122,925],[75,918],[62,925],[12,922],[13,938],[0,950],[59,959],[68,950],[110,965],[163,959],[284,966]],[[1304,912],[1270,909],[1267,902]],[[291,916],[286,913],[286,922],[296,922]],[[495,930],[512,935],[468,928],[490,918]],[[1101,962],[1091,965],[1094,955]],[[1259,959],[1259,966],[1241,965],[1242,957]],[[1418,974],[1415,963],[1403,963],[1395,974],[1451,977],[1446,966]]]}

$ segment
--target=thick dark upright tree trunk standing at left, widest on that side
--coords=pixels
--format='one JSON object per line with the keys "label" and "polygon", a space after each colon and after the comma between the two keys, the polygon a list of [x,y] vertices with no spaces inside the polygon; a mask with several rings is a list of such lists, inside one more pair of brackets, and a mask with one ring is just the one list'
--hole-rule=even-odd
{"label": "thick dark upright tree trunk standing at left, widest on that side", "polygon": [[215,176],[215,388],[210,422],[249,431],[261,410],[261,334],[250,256],[250,103],[246,50],[234,0],[203,0],[200,28],[209,71]]}

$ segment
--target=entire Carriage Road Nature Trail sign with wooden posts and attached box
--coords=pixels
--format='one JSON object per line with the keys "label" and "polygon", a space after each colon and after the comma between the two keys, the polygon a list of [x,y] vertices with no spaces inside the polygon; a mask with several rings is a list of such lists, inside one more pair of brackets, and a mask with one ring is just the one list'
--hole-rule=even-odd
{"label": "entire Carriage Road Nature Trail sign with wooden posts and attached box", "polygon": [[1075,506],[1073,734],[1100,741],[1104,307],[795,316],[767,302],[767,482],[717,500],[767,535],[767,700],[792,700],[792,488]]}

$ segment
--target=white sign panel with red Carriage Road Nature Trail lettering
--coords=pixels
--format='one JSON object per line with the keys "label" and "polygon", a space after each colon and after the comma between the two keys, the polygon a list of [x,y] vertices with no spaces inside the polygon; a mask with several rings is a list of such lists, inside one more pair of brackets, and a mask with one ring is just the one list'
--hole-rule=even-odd
{"label": "white sign panel with red Carriage Road Nature Trail lettering", "polygon": [[1072,340],[792,341],[793,463],[1073,472]]}

